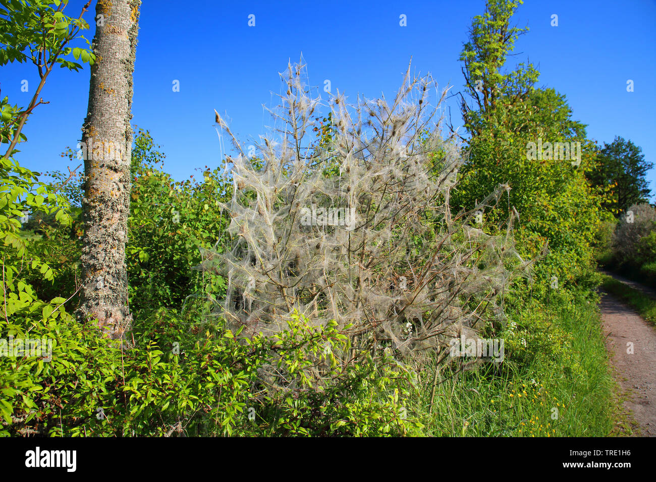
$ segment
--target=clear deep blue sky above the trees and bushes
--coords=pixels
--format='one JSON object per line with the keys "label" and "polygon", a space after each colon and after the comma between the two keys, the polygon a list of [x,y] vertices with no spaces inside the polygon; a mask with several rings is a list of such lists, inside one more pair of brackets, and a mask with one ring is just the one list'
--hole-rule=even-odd
{"label": "clear deep blue sky above the trees and bushes", "polygon": [[[81,0],[66,12],[77,16]],[[85,18],[92,24],[92,9]],[[248,141],[266,131],[281,83],[278,72],[301,52],[311,85],[347,96],[392,96],[412,57],[415,73],[432,73],[440,87],[462,89],[458,57],[471,18],[483,0],[461,1],[144,1],[134,72],[133,123],[149,129],[166,153],[165,170],[182,180],[194,168],[220,164],[214,110]],[[248,26],[249,14],[255,27]],[[407,16],[401,27],[399,17]],[[550,25],[558,15],[558,27]],[[541,71],[539,85],[567,96],[588,136],[611,142],[620,135],[656,162],[656,1],[531,1],[514,17],[529,26],[516,43],[513,64],[527,58]],[[91,39],[94,32],[87,31]],[[2,95],[26,106],[38,84],[31,64],[0,71]],[[634,81],[634,92],[626,81]],[[173,81],[180,91],[173,92]],[[31,90],[31,89],[30,89]],[[75,146],[87,113],[89,69],[56,69],[24,128],[28,142],[16,157],[35,171],[66,171],[59,154]],[[459,124],[455,98],[449,101]],[[457,118],[456,118],[457,117]],[[656,170],[647,178],[656,191]]]}

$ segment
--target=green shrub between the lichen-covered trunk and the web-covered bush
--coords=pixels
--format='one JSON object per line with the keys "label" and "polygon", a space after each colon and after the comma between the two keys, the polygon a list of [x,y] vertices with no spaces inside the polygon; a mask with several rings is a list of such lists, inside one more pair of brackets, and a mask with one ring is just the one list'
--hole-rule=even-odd
{"label": "green shrub between the lichen-covered trunk and the web-covered bush", "polygon": [[[220,277],[194,271],[201,249],[215,247],[227,224],[220,203],[232,186],[219,169],[205,166],[202,180],[176,182],[163,171],[164,155],[148,131],[134,142],[129,240],[126,247],[129,303],[135,313],[180,307],[188,296],[220,296]],[[209,283],[209,284],[208,284]]]}

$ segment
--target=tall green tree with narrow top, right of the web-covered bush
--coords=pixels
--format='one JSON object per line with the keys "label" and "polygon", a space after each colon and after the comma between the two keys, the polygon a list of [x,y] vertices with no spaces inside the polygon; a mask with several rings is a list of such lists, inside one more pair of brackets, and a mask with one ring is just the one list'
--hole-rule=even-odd
{"label": "tall green tree with narrow top, right of the web-covered bush", "polygon": [[[561,285],[576,282],[592,266],[588,245],[598,224],[598,200],[584,173],[594,150],[565,97],[535,87],[539,71],[532,64],[504,70],[516,39],[528,30],[511,26],[521,3],[488,0],[464,43],[461,113],[469,158],[459,172],[452,206],[473,209],[489,186],[508,184],[504,209],[483,213],[486,229],[493,230],[514,207],[520,214],[516,239],[521,254],[535,256],[545,242],[550,247],[536,265],[536,277],[545,287],[553,276]],[[533,149],[540,152],[534,155]]]}

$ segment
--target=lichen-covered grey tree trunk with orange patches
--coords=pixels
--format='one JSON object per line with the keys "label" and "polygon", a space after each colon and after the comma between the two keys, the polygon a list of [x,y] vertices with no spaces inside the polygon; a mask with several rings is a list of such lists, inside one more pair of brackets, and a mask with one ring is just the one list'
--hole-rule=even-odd
{"label": "lichen-covered grey tree trunk with orange patches", "polygon": [[130,125],[140,0],[98,0],[89,108],[82,131],[85,234],[79,315],[96,319],[105,336],[131,327],[125,266],[130,212]]}

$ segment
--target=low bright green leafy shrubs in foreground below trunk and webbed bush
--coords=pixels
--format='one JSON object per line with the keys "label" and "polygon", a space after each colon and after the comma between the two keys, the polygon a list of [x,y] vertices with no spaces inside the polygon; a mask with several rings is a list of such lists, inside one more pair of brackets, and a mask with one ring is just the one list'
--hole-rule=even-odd
{"label": "low bright green leafy shrubs in foreground below trunk and webbed bush", "polygon": [[[405,409],[413,392],[409,373],[364,353],[337,363],[331,350],[345,337],[335,324],[310,328],[297,317],[276,336],[242,343],[220,321],[208,329],[159,310],[134,331],[135,347],[123,351],[51,306],[0,323],[3,338],[52,342],[46,359],[0,358],[0,434],[420,433],[422,425]],[[286,387],[259,380],[266,363],[285,373]],[[315,372],[331,381],[318,384]]]}

